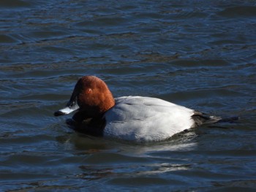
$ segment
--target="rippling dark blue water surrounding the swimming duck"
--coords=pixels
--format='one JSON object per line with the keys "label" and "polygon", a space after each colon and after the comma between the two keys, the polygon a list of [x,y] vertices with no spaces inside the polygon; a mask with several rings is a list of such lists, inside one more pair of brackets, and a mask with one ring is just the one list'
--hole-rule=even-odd
{"label": "rippling dark blue water surrounding the swimming duck", "polygon": [[[0,1],[0,191],[255,191],[255,1]],[[97,75],[236,123],[139,145],[74,133]]]}

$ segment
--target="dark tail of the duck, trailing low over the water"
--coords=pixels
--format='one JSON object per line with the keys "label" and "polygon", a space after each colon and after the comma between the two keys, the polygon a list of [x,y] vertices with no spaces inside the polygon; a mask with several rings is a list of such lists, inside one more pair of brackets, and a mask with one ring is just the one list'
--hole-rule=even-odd
{"label": "dark tail of the duck, trailing low over the water", "polygon": [[195,112],[192,115],[192,119],[195,121],[195,126],[201,126],[212,123],[233,123],[235,120],[238,120],[239,117],[230,117],[230,118],[221,118],[217,116],[209,116],[202,112]]}

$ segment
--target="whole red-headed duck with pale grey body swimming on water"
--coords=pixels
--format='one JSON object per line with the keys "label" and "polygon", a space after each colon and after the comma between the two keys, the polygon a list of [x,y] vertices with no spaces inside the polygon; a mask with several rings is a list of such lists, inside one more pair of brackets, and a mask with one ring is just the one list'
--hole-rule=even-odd
{"label": "whole red-headed duck with pale grey body swimming on water", "polygon": [[114,99],[108,85],[96,76],[83,76],[75,84],[64,108],[55,116],[75,112],[67,125],[82,134],[128,142],[159,142],[173,135],[222,118],[146,96]]}

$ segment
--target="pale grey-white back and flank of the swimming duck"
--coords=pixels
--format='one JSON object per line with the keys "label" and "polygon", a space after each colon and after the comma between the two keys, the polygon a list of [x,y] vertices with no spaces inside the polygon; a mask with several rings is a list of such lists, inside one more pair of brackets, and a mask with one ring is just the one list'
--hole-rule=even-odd
{"label": "pale grey-white back and flank of the swimming duck", "polygon": [[105,112],[105,137],[152,142],[172,137],[194,126],[194,110],[162,99],[123,96]]}

